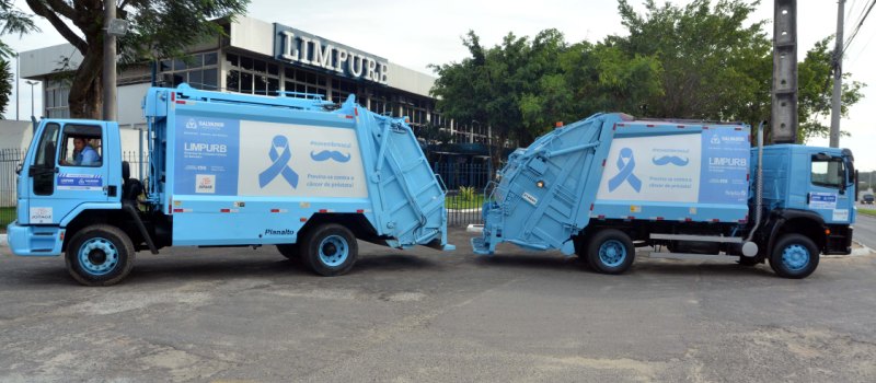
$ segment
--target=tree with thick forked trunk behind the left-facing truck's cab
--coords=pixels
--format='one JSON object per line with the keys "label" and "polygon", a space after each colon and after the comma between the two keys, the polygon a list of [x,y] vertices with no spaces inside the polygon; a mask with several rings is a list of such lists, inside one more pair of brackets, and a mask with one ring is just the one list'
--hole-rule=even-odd
{"label": "tree with thick forked trunk behind the left-facing truck's cab", "polygon": [[[26,1],[34,13],[48,20],[82,54],[70,84],[70,115],[100,118],[104,0]],[[249,0],[122,0],[117,16],[127,20],[130,30],[119,38],[120,60],[178,57],[187,46],[223,33],[211,20],[233,19],[245,11],[247,3]]]}

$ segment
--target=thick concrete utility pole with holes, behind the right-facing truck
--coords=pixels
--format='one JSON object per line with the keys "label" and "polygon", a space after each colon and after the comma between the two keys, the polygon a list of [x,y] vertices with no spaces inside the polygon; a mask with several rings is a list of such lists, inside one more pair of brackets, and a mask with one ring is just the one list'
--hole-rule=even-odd
{"label": "thick concrete utility pole with holes, behind the right-facing truck", "polygon": [[772,139],[797,141],[797,0],[775,0]]}

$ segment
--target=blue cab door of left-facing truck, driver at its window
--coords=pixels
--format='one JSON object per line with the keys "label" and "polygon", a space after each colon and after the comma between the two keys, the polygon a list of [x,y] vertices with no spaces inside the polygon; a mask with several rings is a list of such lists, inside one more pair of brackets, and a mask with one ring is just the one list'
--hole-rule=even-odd
{"label": "blue cab door of left-facing truck, driver at its window", "polygon": [[58,224],[81,204],[108,200],[104,127],[100,123],[46,124],[30,167],[30,223]]}

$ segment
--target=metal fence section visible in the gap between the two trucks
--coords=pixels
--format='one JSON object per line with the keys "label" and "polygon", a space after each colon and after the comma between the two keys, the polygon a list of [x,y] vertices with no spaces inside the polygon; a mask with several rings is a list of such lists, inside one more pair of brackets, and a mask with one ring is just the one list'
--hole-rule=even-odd
{"label": "metal fence section visible in the gap between the two trucks", "polygon": [[484,187],[493,179],[493,167],[486,164],[436,163],[433,171],[447,185],[447,224],[464,227],[481,224]]}

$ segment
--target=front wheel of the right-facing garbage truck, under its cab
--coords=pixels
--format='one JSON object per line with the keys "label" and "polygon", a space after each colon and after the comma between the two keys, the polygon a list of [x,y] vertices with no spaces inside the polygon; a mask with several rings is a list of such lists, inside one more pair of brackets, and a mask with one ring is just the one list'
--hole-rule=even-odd
{"label": "front wheel of the right-facing garbage truck, under its cab", "polygon": [[780,277],[806,278],[818,267],[818,246],[800,234],[785,234],[775,243],[770,254],[770,267]]}

